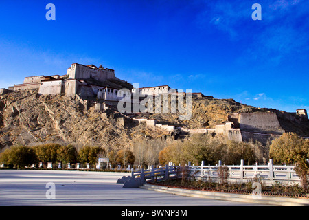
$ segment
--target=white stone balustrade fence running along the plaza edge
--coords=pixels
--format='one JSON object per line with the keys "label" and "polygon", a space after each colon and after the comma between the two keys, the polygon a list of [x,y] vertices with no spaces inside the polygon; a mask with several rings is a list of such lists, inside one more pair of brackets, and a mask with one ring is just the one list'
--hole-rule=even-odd
{"label": "white stone balustrade fence running along the plaza edge", "polygon": [[[204,179],[217,181],[218,180],[218,168],[222,166],[219,161],[216,166],[205,166],[204,162],[200,166],[194,166],[188,163],[189,177],[195,177],[196,179]],[[132,171],[131,177],[140,178],[144,183],[146,181],[162,181],[177,177],[177,169],[180,166],[169,166],[161,168],[152,168],[149,170]],[[247,181],[253,181],[255,178],[260,179],[264,184],[274,184],[276,181],[285,184],[299,184],[300,179],[295,173],[295,166],[275,166],[273,165],[273,160],[271,159],[268,165],[258,165],[253,166],[244,165],[244,161],[241,160],[240,165],[227,166],[229,168],[229,181],[246,183]]]}

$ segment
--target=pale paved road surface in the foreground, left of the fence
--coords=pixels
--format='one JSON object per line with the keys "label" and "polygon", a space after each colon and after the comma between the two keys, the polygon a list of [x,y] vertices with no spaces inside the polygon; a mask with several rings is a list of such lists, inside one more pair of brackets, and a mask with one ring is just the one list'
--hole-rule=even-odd
{"label": "pale paved road surface in the foreground, left of the fence", "polygon": [[[130,173],[78,170],[0,170],[0,206],[259,206],[122,188]],[[54,184],[46,188],[47,183]],[[48,192],[47,192],[48,191]],[[49,198],[55,195],[55,198]]]}

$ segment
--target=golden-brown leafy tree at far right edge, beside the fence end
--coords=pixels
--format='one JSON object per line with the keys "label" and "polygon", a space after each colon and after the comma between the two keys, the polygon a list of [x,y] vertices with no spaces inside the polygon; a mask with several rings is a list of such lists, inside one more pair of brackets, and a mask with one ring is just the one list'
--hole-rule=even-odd
{"label": "golden-brown leafy tree at far right edge, beside the fence end", "polygon": [[295,164],[295,172],[301,179],[301,187],[307,190],[309,164],[309,140],[298,137],[296,133],[284,133],[273,140],[269,149],[275,163]]}

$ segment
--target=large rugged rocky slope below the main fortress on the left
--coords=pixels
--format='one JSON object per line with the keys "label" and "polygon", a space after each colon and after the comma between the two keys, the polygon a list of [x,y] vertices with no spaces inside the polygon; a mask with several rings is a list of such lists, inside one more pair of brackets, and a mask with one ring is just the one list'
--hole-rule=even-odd
{"label": "large rugged rocky slope below the main fortress on the left", "polygon": [[1,96],[0,147],[56,142],[122,148],[143,138],[168,135],[143,125],[124,126],[123,120],[111,111],[87,109],[84,101],[68,96],[16,91]]}

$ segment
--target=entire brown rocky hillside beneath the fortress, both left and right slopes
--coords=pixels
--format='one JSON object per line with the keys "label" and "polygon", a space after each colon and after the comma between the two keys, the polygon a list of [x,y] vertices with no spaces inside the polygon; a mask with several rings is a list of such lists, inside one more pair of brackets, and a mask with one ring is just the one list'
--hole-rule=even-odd
{"label": "entire brown rocky hillside beneath the fortress, both left and right slopes", "polygon": [[[16,91],[0,98],[1,149],[15,144],[34,145],[42,142],[122,148],[145,138],[170,135],[163,129],[130,123],[130,120],[111,110],[95,111],[94,106],[78,98],[42,96],[35,90]],[[298,116],[293,113],[255,108],[232,99],[193,97],[190,120],[179,120],[179,112],[144,113],[139,118],[198,129],[214,128],[216,124],[226,122],[231,113],[269,111],[277,113],[282,129],[309,137],[308,120],[297,120]]]}

